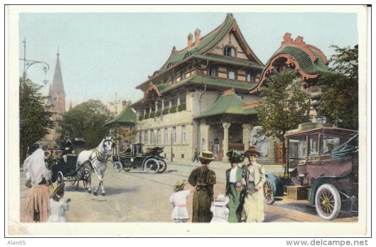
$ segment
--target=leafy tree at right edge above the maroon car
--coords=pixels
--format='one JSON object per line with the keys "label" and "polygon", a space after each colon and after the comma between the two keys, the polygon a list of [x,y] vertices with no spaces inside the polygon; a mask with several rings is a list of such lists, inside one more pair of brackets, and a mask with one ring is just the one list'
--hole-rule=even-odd
{"label": "leafy tree at right edge above the maroon car", "polygon": [[347,129],[358,129],[359,124],[359,93],[358,93],[358,46],[335,48],[332,55],[332,69],[335,73],[323,73],[319,79],[321,100],[317,108],[320,116],[327,123]]}

